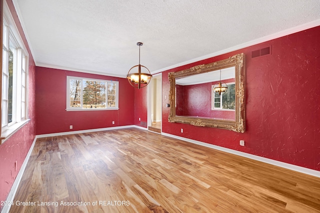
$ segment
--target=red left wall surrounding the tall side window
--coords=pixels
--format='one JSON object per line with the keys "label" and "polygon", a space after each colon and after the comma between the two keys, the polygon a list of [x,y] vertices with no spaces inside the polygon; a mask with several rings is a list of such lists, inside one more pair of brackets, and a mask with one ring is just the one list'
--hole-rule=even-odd
{"label": "red left wall surrounding the tall side window", "polygon": [[[29,53],[28,116],[30,121],[0,145],[0,201],[5,201],[35,137],[35,65],[11,0],[12,17]],[[14,170],[14,163],[17,169]],[[0,210],[2,207],[0,206]]]}

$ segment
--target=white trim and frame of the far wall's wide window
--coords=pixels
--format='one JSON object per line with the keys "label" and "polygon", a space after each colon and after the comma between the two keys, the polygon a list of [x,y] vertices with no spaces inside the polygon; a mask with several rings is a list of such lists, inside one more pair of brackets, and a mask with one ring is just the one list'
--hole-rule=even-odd
{"label": "white trim and frame of the far wall's wide window", "polygon": [[[77,79],[81,80],[89,80],[89,81],[103,81],[106,83],[115,83],[115,98],[116,98],[116,106],[115,107],[106,107],[106,108],[89,108],[89,109],[83,109],[80,107],[70,107],[70,79]],[[82,103],[82,92],[83,92],[83,84],[81,83],[81,103]],[[107,101],[107,100],[106,100]],[[66,76],[66,111],[99,111],[99,110],[118,110],[119,109],[119,82],[118,81],[112,81],[112,80],[104,80],[104,79],[94,79],[94,78],[84,78],[84,77],[75,77],[75,76]]]}

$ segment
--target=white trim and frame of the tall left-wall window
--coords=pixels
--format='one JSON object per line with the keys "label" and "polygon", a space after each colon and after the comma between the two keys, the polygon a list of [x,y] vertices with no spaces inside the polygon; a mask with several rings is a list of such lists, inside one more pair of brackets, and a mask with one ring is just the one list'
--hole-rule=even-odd
{"label": "white trim and frame of the tall left-wall window", "polygon": [[[19,31],[15,25],[14,19],[10,13],[9,7],[6,3],[6,1],[3,1],[3,25],[4,23],[7,24],[8,26],[8,34],[9,36],[13,39],[16,47],[17,47],[17,54],[19,54],[19,56],[24,56],[25,57],[25,113],[24,113],[24,117],[21,118],[21,98],[16,98],[16,96],[20,96],[21,95],[21,91],[20,89],[22,88],[22,86],[19,86],[18,88],[16,88],[16,84],[21,84],[21,69],[19,69],[16,73],[16,76],[14,76],[14,78],[16,78],[13,82],[13,85],[15,85],[14,87],[16,88],[16,91],[13,95],[13,98],[15,96],[15,102],[16,104],[14,105],[13,109],[14,110],[14,114],[15,114],[15,120],[14,122],[11,122],[7,125],[0,125],[1,128],[1,136],[0,136],[0,144],[2,144],[6,139],[8,139],[11,135],[13,135],[16,131],[18,131],[22,126],[24,126],[26,123],[28,123],[30,121],[30,119],[28,118],[28,68],[29,68],[29,63],[28,63],[28,58],[29,58],[29,54],[26,50],[26,47],[23,43],[23,40],[19,34]],[[2,37],[2,35],[1,35]],[[8,38],[9,39],[9,38]],[[0,41],[2,42],[2,40]],[[2,51],[2,49],[1,49]],[[18,65],[21,65],[22,61],[17,61]],[[1,64],[2,67],[2,64]],[[1,78],[2,78],[2,74],[1,74]],[[2,81],[2,79],[1,79]],[[1,102],[2,102],[2,92],[1,92]],[[2,110],[2,108],[1,108]],[[1,112],[2,113],[2,112]]]}

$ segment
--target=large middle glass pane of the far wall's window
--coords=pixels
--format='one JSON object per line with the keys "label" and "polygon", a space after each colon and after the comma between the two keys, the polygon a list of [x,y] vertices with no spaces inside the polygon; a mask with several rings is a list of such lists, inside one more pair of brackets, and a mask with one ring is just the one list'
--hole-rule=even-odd
{"label": "large middle glass pane of the far wall's window", "polygon": [[83,80],[83,108],[105,108],[105,82]]}

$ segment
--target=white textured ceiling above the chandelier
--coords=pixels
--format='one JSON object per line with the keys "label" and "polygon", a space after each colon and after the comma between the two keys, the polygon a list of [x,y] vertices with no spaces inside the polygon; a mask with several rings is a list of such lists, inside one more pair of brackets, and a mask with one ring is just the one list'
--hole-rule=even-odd
{"label": "white textured ceiling above the chandelier", "polygon": [[320,25],[320,0],[13,0],[37,66],[124,77]]}

